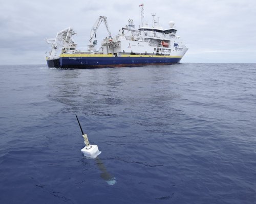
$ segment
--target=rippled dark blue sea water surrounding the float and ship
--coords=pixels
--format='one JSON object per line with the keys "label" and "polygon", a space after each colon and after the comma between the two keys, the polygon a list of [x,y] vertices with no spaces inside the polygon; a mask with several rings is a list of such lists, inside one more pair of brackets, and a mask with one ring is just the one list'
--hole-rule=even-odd
{"label": "rippled dark blue sea water surrounding the float and ship", "polygon": [[255,64],[0,70],[0,203],[256,203]]}

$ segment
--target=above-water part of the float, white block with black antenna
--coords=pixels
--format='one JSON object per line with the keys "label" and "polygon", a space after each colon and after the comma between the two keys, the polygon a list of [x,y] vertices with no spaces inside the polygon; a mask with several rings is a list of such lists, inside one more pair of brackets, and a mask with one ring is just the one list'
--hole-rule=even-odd
{"label": "above-water part of the float, white block with black antenna", "polygon": [[80,130],[82,132],[82,137],[84,139],[84,144],[86,145],[85,147],[83,147],[81,149],[81,152],[83,153],[84,156],[88,157],[88,158],[96,158],[100,153],[101,151],[99,151],[98,149],[98,146],[97,145],[92,145],[89,143],[89,140],[88,140],[88,137],[87,137],[87,134],[84,134],[83,131],[82,131],[82,127],[80,125],[80,122],[78,120],[78,117],[76,115],[76,119],[78,121],[78,124],[80,126]]}

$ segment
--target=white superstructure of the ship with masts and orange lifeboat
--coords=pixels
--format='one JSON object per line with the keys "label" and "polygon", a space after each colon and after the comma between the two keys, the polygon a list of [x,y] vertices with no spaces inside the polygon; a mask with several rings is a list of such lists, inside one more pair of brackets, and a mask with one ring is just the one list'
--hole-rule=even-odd
{"label": "white superstructure of the ship with masts and orange lifeboat", "polygon": [[185,41],[176,35],[175,23],[169,21],[169,28],[163,29],[159,19],[153,16],[151,27],[144,23],[143,6],[141,7],[141,26],[136,29],[134,21],[119,30],[119,34],[102,41],[101,53],[121,56],[122,54],[132,55],[162,55],[162,56],[183,56],[187,48]]}

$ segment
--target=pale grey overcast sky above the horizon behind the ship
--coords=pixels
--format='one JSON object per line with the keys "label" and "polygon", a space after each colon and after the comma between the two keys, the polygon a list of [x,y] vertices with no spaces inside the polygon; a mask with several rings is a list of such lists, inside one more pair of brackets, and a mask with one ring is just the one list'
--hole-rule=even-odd
{"label": "pale grey overcast sky above the horizon behind the ship", "polygon": [[[0,64],[46,64],[44,39],[69,26],[85,49],[99,15],[108,17],[112,36],[129,18],[138,28],[142,2],[149,23],[152,13],[164,29],[175,21],[189,48],[181,62],[256,63],[255,0],[0,1]],[[98,42],[108,36],[103,24],[97,35]]]}

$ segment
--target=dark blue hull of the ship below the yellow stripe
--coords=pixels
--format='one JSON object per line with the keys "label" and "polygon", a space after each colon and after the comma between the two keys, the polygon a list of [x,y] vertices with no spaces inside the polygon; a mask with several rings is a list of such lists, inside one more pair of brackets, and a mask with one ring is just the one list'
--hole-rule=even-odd
{"label": "dark blue hull of the ship below the yellow stripe", "polygon": [[131,67],[145,65],[170,65],[179,63],[181,57],[60,57],[47,60],[48,67],[55,68],[100,68]]}

